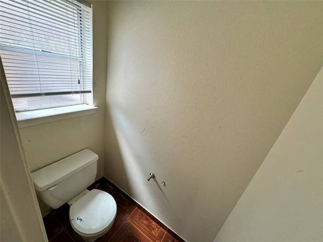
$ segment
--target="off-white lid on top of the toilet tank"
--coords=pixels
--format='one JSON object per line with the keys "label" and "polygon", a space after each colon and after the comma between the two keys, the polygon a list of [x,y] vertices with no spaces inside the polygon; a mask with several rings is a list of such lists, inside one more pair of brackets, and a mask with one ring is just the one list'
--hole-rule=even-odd
{"label": "off-white lid on top of the toilet tank", "polygon": [[48,189],[66,177],[78,172],[97,161],[98,156],[89,149],[84,149],[55,163],[47,165],[31,173],[37,191]]}

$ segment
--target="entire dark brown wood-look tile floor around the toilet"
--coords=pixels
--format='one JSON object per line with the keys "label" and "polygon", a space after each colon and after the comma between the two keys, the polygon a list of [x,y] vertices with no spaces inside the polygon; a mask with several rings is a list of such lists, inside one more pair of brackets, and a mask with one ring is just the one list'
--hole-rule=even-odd
{"label": "entire dark brown wood-look tile floor around the toilet", "polygon": [[[110,193],[117,202],[114,225],[97,242],[185,242],[105,177],[88,189],[94,188]],[[84,242],[70,224],[67,204],[53,210],[43,221],[49,242]]]}

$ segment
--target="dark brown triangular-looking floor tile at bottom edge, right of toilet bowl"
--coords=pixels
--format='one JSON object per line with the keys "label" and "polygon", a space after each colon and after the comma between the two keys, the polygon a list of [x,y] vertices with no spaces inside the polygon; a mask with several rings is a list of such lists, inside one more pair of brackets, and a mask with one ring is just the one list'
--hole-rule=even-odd
{"label": "dark brown triangular-looking floor tile at bottom edge, right of toilet bowl", "polygon": [[122,225],[109,242],[151,242],[151,240],[129,223]]}

